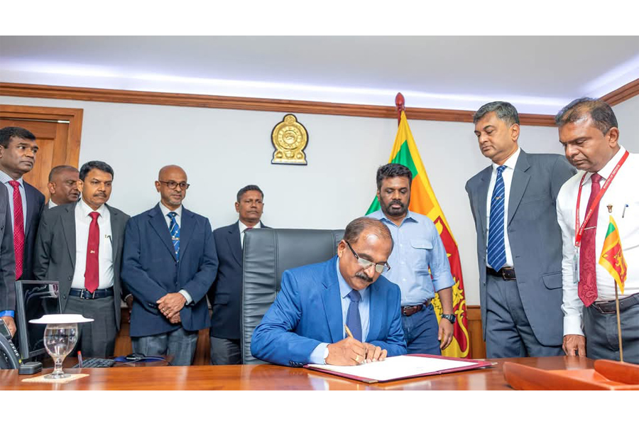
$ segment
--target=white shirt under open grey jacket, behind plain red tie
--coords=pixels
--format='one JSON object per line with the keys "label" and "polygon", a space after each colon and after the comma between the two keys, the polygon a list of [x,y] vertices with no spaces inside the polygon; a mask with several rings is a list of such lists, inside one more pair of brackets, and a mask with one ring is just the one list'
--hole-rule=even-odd
{"label": "white shirt under open grey jacket, behind plain red tie", "polygon": [[[71,288],[84,288],[84,272],[87,270],[87,244],[89,242],[89,225],[92,222],[89,213],[94,210],[84,200],[75,204],[75,270]],[[111,236],[111,213],[102,204],[96,210],[99,232],[98,289],[113,287],[113,236]]]}

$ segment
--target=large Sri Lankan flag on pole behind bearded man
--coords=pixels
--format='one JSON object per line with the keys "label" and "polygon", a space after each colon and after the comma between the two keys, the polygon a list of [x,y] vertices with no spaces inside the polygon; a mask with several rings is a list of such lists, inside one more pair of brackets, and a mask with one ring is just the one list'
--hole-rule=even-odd
{"label": "large Sri Lankan flag on pole behind bearded man", "polygon": [[[398,163],[405,165],[413,173],[413,184],[410,186],[410,205],[408,208],[411,212],[423,214],[432,220],[437,226],[439,237],[444,243],[444,248],[448,253],[448,261],[450,263],[450,271],[452,273],[455,285],[453,287],[453,310],[457,317],[454,326],[453,341],[447,349],[444,349],[444,356],[456,356],[459,358],[469,357],[469,337],[468,337],[468,319],[466,314],[466,297],[464,296],[464,280],[461,278],[461,262],[459,261],[459,251],[457,250],[457,242],[452,236],[448,222],[444,217],[442,208],[439,207],[435,193],[432,192],[424,164],[420,153],[417,151],[415,139],[410,133],[406,114],[402,111],[400,124],[395,136],[393,151],[388,163]],[[373,200],[371,207],[368,208],[366,214],[375,212],[380,208],[377,198]],[[432,302],[437,313],[437,319],[441,320],[442,304],[439,302],[439,296],[435,293],[435,300]]]}

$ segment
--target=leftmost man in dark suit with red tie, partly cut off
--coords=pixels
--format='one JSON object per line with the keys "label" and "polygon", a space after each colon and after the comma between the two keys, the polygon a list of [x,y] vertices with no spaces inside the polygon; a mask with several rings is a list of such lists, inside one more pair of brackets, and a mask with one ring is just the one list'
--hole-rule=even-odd
{"label": "leftmost man in dark suit with red tie, partly cut off", "polygon": [[[35,165],[38,143],[35,135],[21,127],[0,129],[0,181],[9,192],[9,217],[13,229],[15,280],[33,280],[33,247],[44,195],[23,180]],[[12,332],[15,312],[0,311]]]}

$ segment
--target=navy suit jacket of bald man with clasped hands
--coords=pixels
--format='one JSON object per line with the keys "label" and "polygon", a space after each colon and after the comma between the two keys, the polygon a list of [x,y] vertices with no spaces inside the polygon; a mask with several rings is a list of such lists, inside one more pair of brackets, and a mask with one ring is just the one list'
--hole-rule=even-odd
{"label": "navy suit jacket of bald man with clasped hands", "polygon": [[182,207],[180,260],[159,204],[134,216],[126,225],[122,280],[133,293],[131,337],[173,331],[155,302],[168,293],[186,290],[193,302],[180,311],[188,331],[209,327],[207,290],[217,273],[217,254],[209,219]]}

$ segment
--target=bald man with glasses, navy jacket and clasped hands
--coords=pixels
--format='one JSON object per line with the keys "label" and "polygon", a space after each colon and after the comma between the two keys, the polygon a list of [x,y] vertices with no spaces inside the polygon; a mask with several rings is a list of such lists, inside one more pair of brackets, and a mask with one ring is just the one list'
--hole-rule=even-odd
{"label": "bald man with glasses, navy jacket and clasped hands", "polygon": [[122,280],[133,294],[131,343],[144,356],[192,364],[197,332],[209,327],[207,290],[217,274],[209,219],[182,206],[190,184],[177,165],[160,169],[160,202],[126,226]]}

